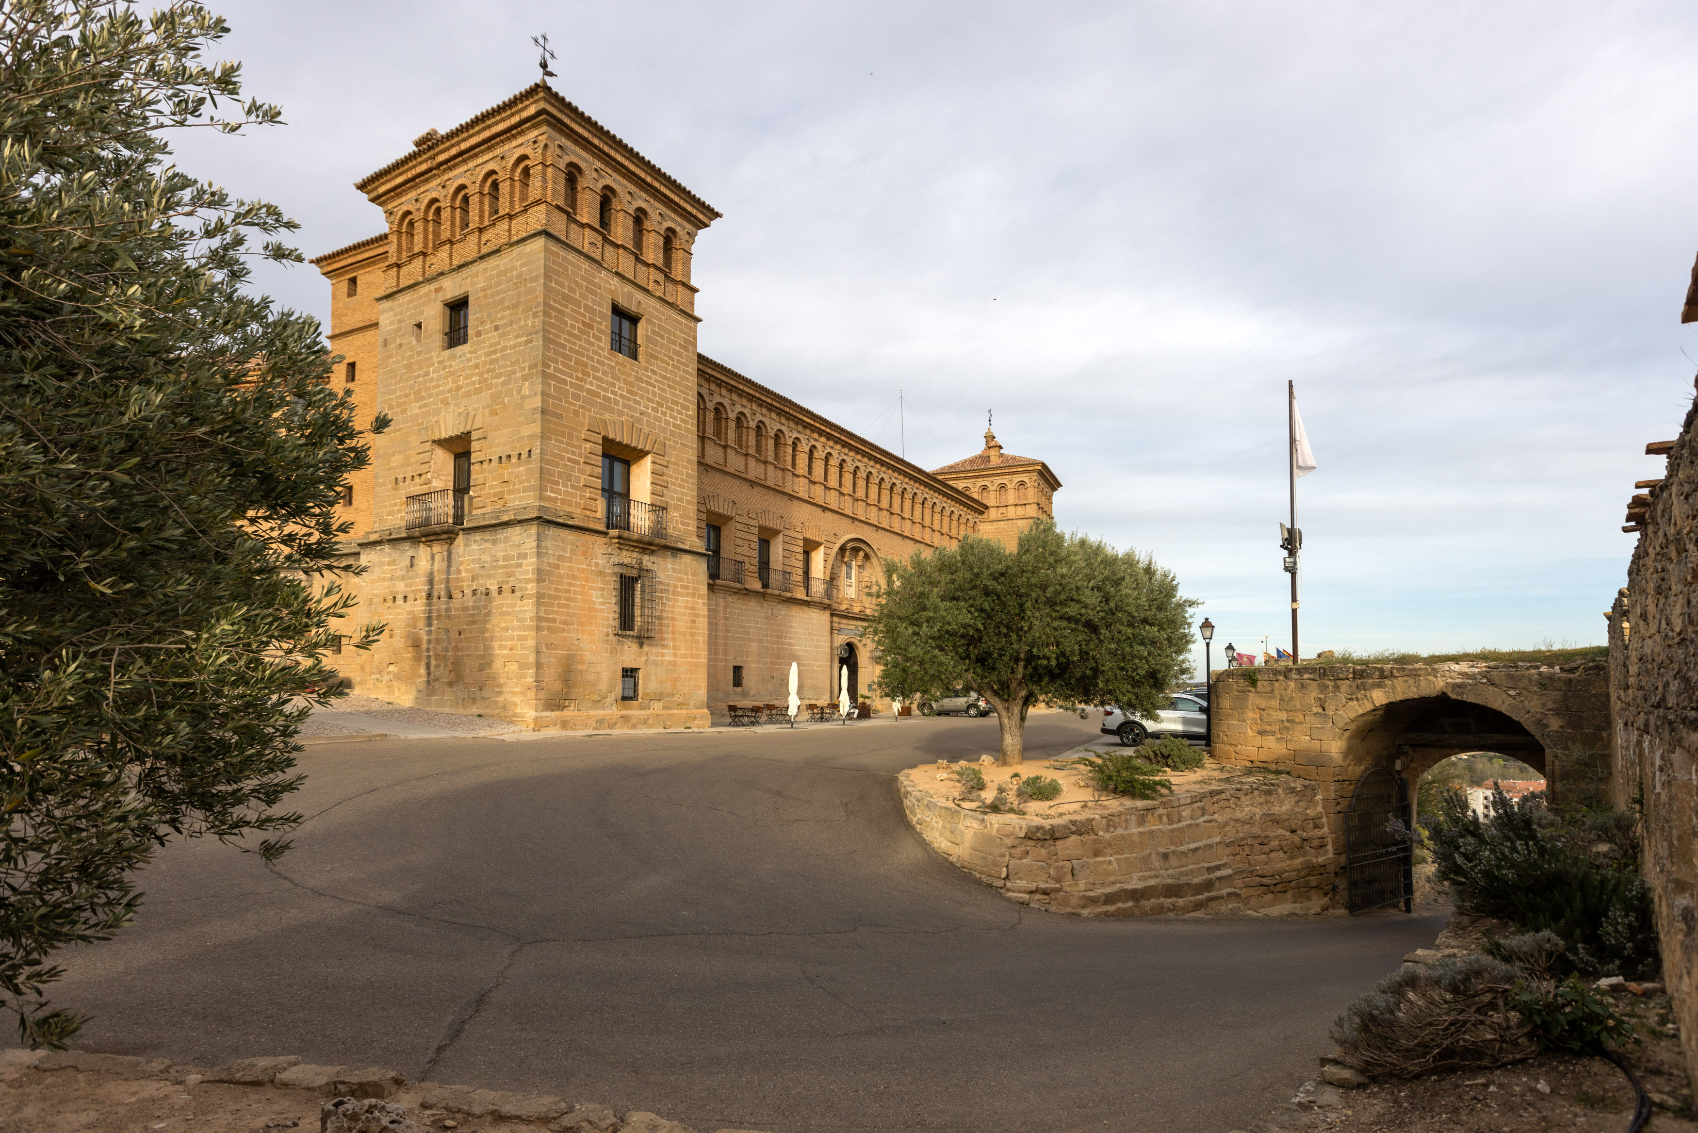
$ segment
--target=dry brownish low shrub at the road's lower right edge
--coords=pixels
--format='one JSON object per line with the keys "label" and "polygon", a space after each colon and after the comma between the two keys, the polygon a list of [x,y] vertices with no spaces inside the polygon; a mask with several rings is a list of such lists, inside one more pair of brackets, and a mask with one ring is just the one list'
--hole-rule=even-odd
{"label": "dry brownish low shrub at the road's lower right edge", "polygon": [[1525,975],[1491,956],[1408,963],[1333,1021],[1338,1060],[1367,1075],[1503,1067],[1538,1050],[1515,1007]]}

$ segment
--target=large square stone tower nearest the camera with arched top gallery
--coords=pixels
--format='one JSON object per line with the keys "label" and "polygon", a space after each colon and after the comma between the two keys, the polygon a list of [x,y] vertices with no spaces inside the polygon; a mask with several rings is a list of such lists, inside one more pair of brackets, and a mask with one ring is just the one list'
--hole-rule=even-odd
{"label": "large square stone tower nearest the camera with arched top gallery", "polygon": [[319,256],[363,414],[355,691],[531,727],[708,724],[696,233],[720,214],[538,83],[357,185]]}

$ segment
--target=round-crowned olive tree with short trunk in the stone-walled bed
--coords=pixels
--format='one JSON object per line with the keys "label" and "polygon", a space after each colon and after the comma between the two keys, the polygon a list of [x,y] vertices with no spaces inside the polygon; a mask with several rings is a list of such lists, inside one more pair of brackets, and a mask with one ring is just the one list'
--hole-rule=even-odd
{"label": "round-crowned olive tree with short trunk in the stone-walled bed", "polygon": [[997,710],[997,763],[1020,763],[1037,700],[1153,713],[1190,671],[1190,610],[1150,555],[1034,523],[1010,554],[988,538],[885,564],[866,637],[880,688],[976,690]]}

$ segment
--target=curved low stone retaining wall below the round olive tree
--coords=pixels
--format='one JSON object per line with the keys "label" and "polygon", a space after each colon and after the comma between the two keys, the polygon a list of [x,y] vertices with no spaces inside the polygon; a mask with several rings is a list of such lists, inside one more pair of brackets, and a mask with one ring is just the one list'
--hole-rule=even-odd
{"label": "curved low stone retaining wall below the round olive tree", "polygon": [[1073,817],[964,810],[897,776],[908,822],[1005,897],[1090,917],[1321,912],[1336,863],[1314,783],[1245,773]]}

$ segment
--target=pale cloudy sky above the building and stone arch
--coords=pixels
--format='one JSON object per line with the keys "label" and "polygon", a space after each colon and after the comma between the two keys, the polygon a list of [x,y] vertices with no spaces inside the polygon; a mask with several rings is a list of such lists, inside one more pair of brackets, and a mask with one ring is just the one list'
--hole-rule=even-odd
{"label": "pale cloudy sky above the building and stone arch", "polygon": [[[1217,642],[1603,640],[1698,335],[1690,3],[214,3],[289,126],[185,168],[316,255],[351,189],[537,78],[718,207],[701,350],[925,467],[1009,452]],[[328,314],[311,268],[267,272]],[[1219,651],[1216,651],[1219,662]]]}

